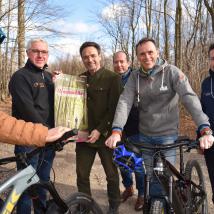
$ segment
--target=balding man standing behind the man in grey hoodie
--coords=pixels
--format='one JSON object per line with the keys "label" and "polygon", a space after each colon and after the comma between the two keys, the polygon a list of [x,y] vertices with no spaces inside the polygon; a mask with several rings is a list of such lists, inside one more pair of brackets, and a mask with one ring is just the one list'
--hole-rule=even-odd
{"label": "balding man standing behind the man in grey hoodie", "polygon": [[[125,52],[118,51],[114,54],[113,56],[114,71],[121,76],[123,87],[125,87],[125,84],[128,81],[128,78],[132,72],[132,69],[129,66],[130,66],[129,59]],[[136,105],[133,105],[129,113],[129,117],[127,119],[126,125],[124,126],[124,129],[123,129],[123,138],[137,135],[139,133],[138,124],[139,124],[138,108]],[[144,203],[143,165],[141,170],[142,171],[135,173],[136,187],[138,189],[138,198],[135,203],[136,211],[142,210],[143,203]],[[128,172],[127,170],[121,170],[121,177],[122,177],[123,185],[125,187],[125,191],[122,193],[122,202],[125,202],[129,197],[131,197],[134,194],[132,173]]]}

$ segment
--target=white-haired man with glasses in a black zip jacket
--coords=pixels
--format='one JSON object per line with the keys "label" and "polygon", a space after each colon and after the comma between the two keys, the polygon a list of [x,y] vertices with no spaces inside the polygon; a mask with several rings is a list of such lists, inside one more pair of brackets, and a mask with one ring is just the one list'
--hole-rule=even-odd
{"label": "white-haired man with glasses in a black zip jacket", "polygon": [[[42,123],[48,128],[54,127],[54,87],[52,76],[46,71],[48,44],[38,38],[27,45],[28,60],[25,66],[16,71],[9,82],[12,95],[12,115],[27,122]],[[15,153],[29,152],[33,147],[15,146]],[[42,180],[50,179],[50,170],[55,153],[45,151],[31,159],[30,164],[38,170]],[[17,169],[23,166],[17,163]],[[46,201],[46,191],[38,190],[39,200]],[[31,200],[24,194],[17,205],[17,214],[31,213]],[[39,208],[35,213],[41,213]]]}

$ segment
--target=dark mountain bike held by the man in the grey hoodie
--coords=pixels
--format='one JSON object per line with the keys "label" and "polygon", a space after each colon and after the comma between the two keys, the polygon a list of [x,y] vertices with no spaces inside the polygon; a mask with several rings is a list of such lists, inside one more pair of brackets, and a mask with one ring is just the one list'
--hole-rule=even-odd
{"label": "dark mountain bike held by the man in the grey hoodie", "polygon": [[[173,144],[148,144],[125,141],[124,146],[137,154],[151,152],[153,155],[152,173],[145,174],[144,214],[208,214],[205,180],[197,160],[184,163],[184,153],[198,149],[199,142],[180,137]],[[164,156],[164,151],[179,148],[180,169],[176,169]],[[132,164],[129,161],[127,164]],[[152,195],[154,183],[163,189],[163,194]]]}

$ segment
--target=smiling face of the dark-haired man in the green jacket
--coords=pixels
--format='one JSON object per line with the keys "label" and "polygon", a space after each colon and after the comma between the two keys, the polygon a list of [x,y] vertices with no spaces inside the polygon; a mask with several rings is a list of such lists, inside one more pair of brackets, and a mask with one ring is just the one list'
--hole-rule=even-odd
{"label": "smiling face of the dark-haired man in the green jacket", "polygon": [[100,69],[101,56],[95,47],[89,46],[84,48],[81,57],[85,68],[91,74],[94,74],[96,71]]}

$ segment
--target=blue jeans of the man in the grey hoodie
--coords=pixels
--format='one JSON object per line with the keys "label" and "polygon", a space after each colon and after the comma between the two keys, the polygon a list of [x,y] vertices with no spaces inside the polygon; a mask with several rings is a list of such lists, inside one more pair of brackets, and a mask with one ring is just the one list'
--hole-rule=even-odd
{"label": "blue jeans of the man in the grey hoodie", "polygon": [[[171,144],[173,143],[178,136],[170,135],[170,136],[146,136],[144,134],[135,135],[134,138],[131,140],[134,142],[145,142],[145,143],[151,143],[151,144]],[[164,155],[168,161],[170,161],[173,165],[176,163],[176,149],[170,149],[168,151],[164,151]],[[144,151],[143,152],[143,160],[145,163],[146,168],[146,174],[152,176],[153,173],[153,156],[154,152]],[[150,194],[151,195],[163,195],[165,194],[163,192],[163,189],[160,186],[160,183],[157,181],[157,179],[153,176],[152,181],[150,183]]]}

